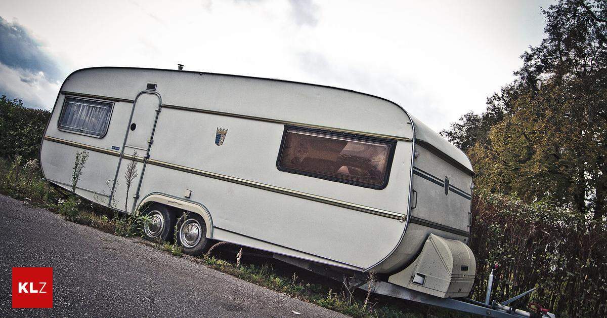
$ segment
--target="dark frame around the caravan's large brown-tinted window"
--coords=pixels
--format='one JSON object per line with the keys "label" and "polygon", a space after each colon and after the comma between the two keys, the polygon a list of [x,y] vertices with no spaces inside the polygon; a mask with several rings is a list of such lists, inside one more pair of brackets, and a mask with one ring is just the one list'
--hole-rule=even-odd
{"label": "dark frame around the caravan's large brown-tinted window", "polygon": [[[310,172],[310,171],[283,167],[282,165],[280,165],[280,159],[282,158],[282,152],[283,152],[283,149],[285,146],[285,141],[287,140],[287,131],[290,131],[290,130],[291,131],[302,131],[304,133],[323,134],[326,136],[334,136],[334,137],[347,137],[349,139],[359,140],[361,142],[375,142],[375,143],[382,143],[384,145],[390,145],[391,147],[390,147],[390,150],[388,151],[388,157],[386,160],[384,180],[382,181],[381,184],[374,185],[374,184],[368,184],[365,182],[349,180],[349,179],[345,179],[345,178],[338,178],[336,176],[324,175],[322,173],[315,173],[315,172]],[[285,128],[282,132],[282,140],[280,140],[280,148],[278,151],[278,157],[276,159],[276,168],[279,171],[293,173],[295,175],[310,176],[313,178],[324,179],[324,180],[333,181],[333,182],[339,182],[342,184],[356,185],[357,187],[372,188],[374,190],[382,190],[388,186],[388,181],[390,180],[390,171],[392,170],[392,161],[394,159],[395,151],[396,151],[396,140],[392,140],[392,139],[381,139],[381,138],[377,138],[377,137],[364,136],[364,135],[360,135],[360,134],[350,134],[350,133],[342,133],[342,132],[330,131],[330,130],[321,130],[321,129],[316,129],[316,128],[302,127],[302,126],[285,125]]]}

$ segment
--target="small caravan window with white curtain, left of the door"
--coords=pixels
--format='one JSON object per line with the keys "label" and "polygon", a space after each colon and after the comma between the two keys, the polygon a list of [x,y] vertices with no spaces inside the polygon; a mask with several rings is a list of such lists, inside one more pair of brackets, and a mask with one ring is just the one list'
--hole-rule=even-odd
{"label": "small caravan window with white curtain, left of the door", "polygon": [[112,105],[112,102],[66,97],[59,129],[103,137],[110,122]]}

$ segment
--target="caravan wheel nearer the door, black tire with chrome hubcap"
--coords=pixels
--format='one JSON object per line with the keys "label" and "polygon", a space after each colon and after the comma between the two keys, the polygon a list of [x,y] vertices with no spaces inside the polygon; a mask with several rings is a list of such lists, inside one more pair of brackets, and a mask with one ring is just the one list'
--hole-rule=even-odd
{"label": "caravan wheel nearer the door, black tire with chrome hubcap", "polygon": [[171,207],[154,203],[143,212],[143,215],[149,218],[143,226],[144,238],[151,241],[173,240],[175,212]]}

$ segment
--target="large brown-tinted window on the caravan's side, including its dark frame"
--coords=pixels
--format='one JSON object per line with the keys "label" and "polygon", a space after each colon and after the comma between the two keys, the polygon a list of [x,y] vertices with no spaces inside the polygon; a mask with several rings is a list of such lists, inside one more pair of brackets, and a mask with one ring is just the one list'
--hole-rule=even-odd
{"label": "large brown-tinted window on the caravan's side, including its dark frame", "polygon": [[278,166],[302,175],[384,188],[394,147],[388,141],[287,128]]}

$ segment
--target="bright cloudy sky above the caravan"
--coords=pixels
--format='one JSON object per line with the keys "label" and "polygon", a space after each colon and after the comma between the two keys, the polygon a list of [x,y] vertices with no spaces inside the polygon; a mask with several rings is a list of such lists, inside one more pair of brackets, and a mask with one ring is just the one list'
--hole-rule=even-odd
{"label": "bright cloudy sky above the caravan", "polygon": [[442,130],[511,81],[551,1],[0,2],[0,94],[52,108],[76,69],[282,78],[392,100]]}

